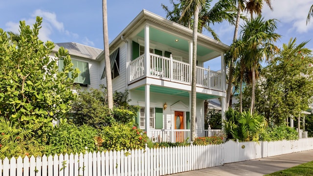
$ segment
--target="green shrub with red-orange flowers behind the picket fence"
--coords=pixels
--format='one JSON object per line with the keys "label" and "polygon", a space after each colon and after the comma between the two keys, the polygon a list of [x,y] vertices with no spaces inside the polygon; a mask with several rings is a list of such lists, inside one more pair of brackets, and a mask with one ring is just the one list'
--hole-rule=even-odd
{"label": "green shrub with red-orange flowers behind the picket fence", "polygon": [[111,127],[104,127],[99,137],[99,149],[115,151],[143,149],[148,140],[146,133],[133,127],[133,123],[115,123]]}

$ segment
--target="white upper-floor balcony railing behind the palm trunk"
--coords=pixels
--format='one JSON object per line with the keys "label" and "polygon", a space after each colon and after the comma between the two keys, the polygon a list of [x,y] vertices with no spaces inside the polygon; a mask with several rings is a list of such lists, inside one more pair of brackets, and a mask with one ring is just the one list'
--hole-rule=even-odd
{"label": "white upper-floor balcony railing behind the palm trunk", "polygon": [[[150,67],[145,68],[144,54],[134,59],[129,66],[129,81],[133,83],[144,77],[152,77],[164,81],[176,82],[186,85],[191,85],[191,65],[181,61],[149,54]],[[148,70],[146,74],[145,70]],[[223,91],[222,73],[212,71],[209,68],[196,67],[196,82],[197,87],[208,88]]]}

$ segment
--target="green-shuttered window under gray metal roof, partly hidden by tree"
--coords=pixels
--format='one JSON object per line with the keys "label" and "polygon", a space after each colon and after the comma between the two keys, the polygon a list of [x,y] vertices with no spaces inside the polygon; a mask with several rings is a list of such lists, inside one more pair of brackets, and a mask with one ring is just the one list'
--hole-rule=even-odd
{"label": "green-shuttered window under gray metal roof, partly hidden by tree", "polygon": [[[80,73],[77,78],[74,79],[74,83],[81,84],[82,86],[90,85],[89,75],[89,63],[83,61],[72,60],[73,68],[78,68]],[[59,59],[59,70],[61,71],[64,67],[64,60]],[[71,72],[68,73],[68,77],[71,78]]]}

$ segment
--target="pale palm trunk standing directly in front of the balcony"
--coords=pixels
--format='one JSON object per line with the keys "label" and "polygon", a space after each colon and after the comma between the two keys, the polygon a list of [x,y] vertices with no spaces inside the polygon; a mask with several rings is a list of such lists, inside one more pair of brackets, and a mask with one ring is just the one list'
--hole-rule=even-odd
{"label": "pale palm trunk standing directly in front of the balcony", "polygon": [[190,140],[196,138],[196,64],[197,64],[197,40],[198,40],[198,21],[201,5],[197,5],[194,13],[193,43],[192,43],[192,72],[191,72],[191,122],[190,122]]}

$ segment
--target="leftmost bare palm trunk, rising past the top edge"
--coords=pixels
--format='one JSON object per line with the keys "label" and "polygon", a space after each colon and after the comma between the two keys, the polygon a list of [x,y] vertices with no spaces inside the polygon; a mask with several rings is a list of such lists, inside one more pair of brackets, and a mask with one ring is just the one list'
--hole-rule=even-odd
{"label": "leftmost bare palm trunk, rising past the top edge", "polygon": [[104,59],[106,63],[106,74],[107,74],[108,108],[112,109],[113,108],[113,92],[112,92],[112,77],[111,77],[107,12],[108,12],[107,0],[102,0],[103,41],[104,41]]}

